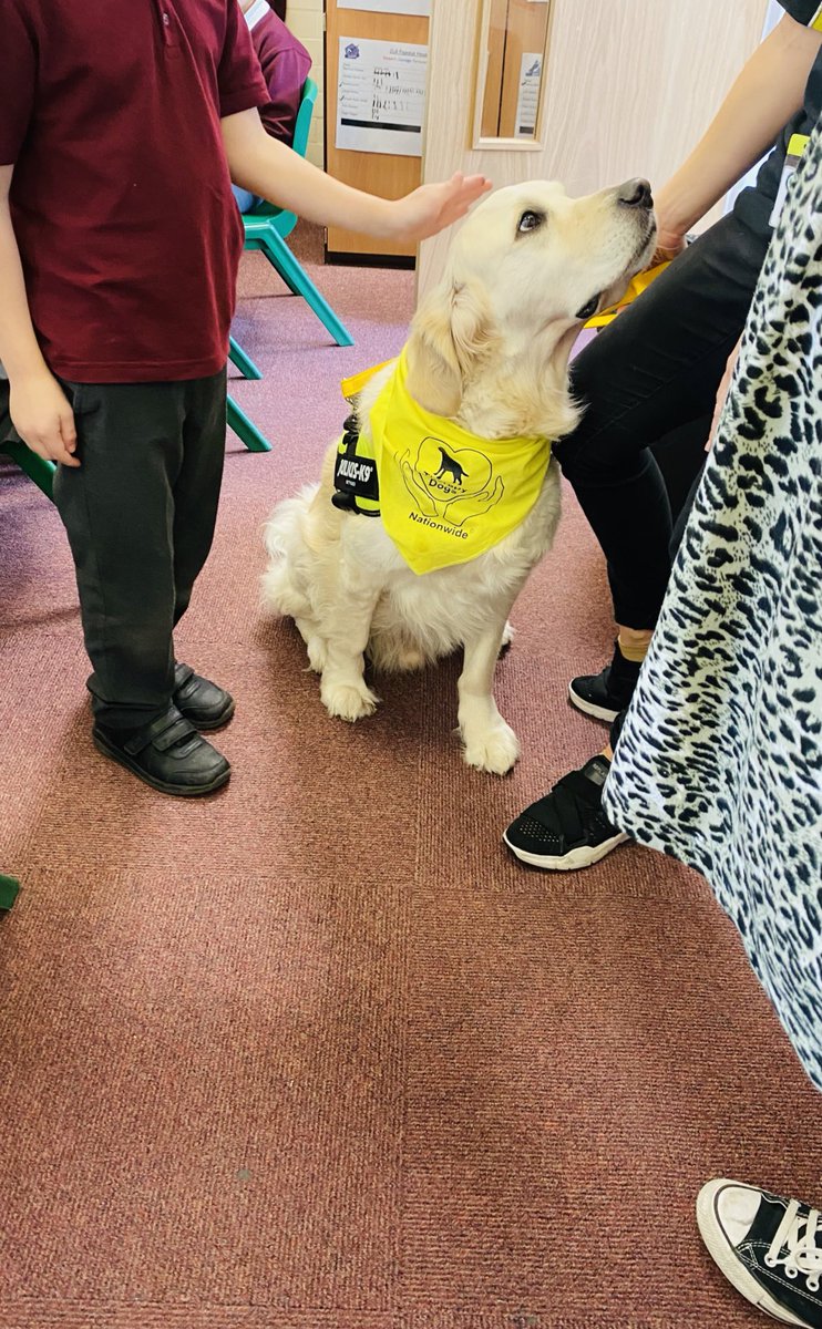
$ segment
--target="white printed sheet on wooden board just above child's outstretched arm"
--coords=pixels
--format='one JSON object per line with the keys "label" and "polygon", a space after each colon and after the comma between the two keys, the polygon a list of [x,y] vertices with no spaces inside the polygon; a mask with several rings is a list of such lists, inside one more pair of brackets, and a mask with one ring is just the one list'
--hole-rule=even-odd
{"label": "white printed sheet on wooden board just above child's outstretched arm", "polygon": [[337,148],[422,157],[428,47],[339,39]]}

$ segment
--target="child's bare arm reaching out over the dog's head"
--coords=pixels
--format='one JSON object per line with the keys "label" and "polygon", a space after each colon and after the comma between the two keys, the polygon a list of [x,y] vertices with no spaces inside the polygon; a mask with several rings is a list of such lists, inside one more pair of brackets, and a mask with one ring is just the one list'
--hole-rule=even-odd
{"label": "child's bare arm reaching out over the dog's head", "polygon": [[459,221],[491,189],[484,175],[458,173],[442,185],[422,185],[404,198],[378,198],[326,175],[271,138],[257,110],[225,116],[221,125],[235,185],[323,226],[412,243]]}

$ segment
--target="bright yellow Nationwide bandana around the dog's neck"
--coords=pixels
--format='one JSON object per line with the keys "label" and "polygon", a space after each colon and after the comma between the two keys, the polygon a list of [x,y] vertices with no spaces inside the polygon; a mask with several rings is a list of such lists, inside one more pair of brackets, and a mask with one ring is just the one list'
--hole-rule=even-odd
{"label": "bright yellow Nationwide bandana around the dog's neck", "polygon": [[[371,407],[356,460],[342,460],[342,466],[343,477],[356,466],[364,473],[374,459],[379,506],[370,500],[372,514],[379,512],[408,566],[431,573],[467,563],[516,530],[539,498],[551,440],[479,439],[454,420],[424,411],[406,387],[407,369],[403,351]],[[370,376],[346,380],[346,396]]]}

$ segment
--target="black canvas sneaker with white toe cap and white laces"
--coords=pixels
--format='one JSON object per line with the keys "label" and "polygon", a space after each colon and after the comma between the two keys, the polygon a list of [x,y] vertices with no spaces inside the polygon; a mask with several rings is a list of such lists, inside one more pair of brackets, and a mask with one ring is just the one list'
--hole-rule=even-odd
{"label": "black canvas sneaker with white toe cap and white laces", "polygon": [[700,1191],[705,1245],[737,1292],[786,1325],[822,1329],[822,1215],[720,1179]]}

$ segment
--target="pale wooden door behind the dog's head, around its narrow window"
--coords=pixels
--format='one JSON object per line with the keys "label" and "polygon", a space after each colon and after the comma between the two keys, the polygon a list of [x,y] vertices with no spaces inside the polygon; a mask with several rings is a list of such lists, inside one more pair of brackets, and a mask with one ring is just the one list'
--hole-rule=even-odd
{"label": "pale wooden door behind the dog's head, around its narrow window", "polygon": [[[541,5],[536,5],[540,8]],[[424,179],[481,170],[496,185],[561,179],[584,194],[630,175],[661,185],[708,126],[762,33],[767,0],[552,0],[544,146],[467,149],[479,0],[434,0]],[[419,284],[448,238],[422,246]]]}

